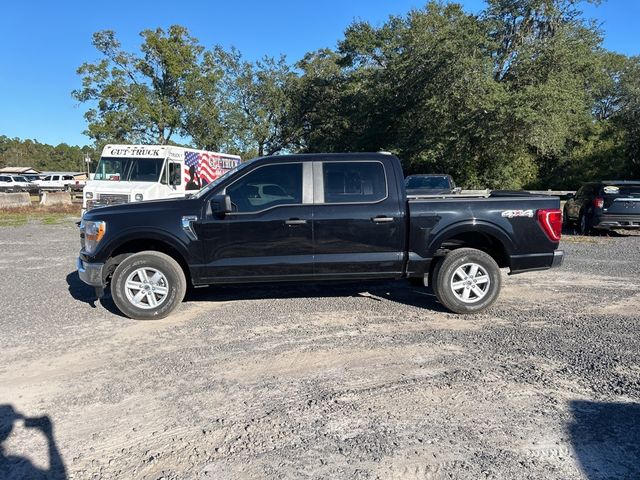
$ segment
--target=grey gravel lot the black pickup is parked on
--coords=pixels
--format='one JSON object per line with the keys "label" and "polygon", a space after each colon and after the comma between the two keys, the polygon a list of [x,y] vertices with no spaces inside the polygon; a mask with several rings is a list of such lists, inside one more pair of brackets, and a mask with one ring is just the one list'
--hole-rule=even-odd
{"label": "grey gravel lot the black pickup is parked on", "polygon": [[568,235],[473,317],[393,282],[135,322],[79,281],[72,222],[0,246],[0,478],[640,478],[640,235]]}

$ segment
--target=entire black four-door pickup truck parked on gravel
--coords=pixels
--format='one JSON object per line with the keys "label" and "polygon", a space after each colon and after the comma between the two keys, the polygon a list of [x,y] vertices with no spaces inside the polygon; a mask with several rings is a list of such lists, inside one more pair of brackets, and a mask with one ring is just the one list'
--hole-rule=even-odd
{"label": "entire black four-door pickup truck parked on gravel", "polygon": [[513,193],[407,198],[385,153],[264,157],[191,197],[85,213],[78,271],[135,319],[167,316],[187,283],[401,278],[473,313],[495,301],[500,268],[562,263],[559,207]]}

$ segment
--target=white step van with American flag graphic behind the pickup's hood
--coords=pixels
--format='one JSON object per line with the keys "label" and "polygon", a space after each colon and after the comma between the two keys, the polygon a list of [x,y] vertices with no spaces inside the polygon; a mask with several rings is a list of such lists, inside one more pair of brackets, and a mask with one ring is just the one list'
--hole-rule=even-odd
{"label": "white step van with American flag graphic behind the pickup's hood", "polygon": [[238,155],[169,145],[107,145],[84,187],[82,207],[184,197],[240,161]]}

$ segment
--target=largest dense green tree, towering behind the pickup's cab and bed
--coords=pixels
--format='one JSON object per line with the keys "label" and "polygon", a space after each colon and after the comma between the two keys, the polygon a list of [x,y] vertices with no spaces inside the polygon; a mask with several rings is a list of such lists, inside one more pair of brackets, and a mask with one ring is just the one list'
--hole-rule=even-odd
{"label": "largest dense green tree, towering behind the pickup's cab and bed", "polygon": [[579,3],[491,0],[471,15],[430,2],[352,24],[336,51],[298,64],[304,148],[391,150],[409,173],[468,187],[561,183],[610,91]]}

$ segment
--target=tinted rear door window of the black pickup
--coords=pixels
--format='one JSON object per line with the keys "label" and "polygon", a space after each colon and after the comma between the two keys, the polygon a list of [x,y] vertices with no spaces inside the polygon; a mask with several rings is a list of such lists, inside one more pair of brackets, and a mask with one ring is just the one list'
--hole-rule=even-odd
{"label": "tinted rear door window of the black pickup", "polygon": [[380,162],[324,162],[324,203],[374,203],[387,198]]}

